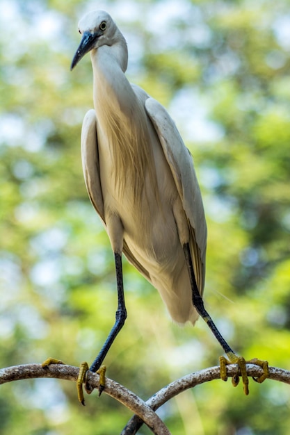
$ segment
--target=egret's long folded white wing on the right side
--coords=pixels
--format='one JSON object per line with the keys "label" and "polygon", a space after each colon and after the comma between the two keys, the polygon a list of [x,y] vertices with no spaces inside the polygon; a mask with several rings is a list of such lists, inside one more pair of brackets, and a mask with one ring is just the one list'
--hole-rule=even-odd
{"label": "egret's long folded white wing on the right side", "polygon": [[161,104],[153,98],[145,101],[145,109],[161,142],[191,229],[191,255],[198,288],[204,288],[207,224],[202,195],[193,167],[193,159],[175,126]]}

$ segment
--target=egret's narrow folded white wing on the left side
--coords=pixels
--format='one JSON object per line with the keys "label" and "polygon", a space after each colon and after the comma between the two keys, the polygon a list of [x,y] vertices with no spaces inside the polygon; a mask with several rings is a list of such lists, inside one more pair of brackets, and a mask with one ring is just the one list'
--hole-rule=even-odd
{"label": "egret's narrow folded white wing on the left side", "polygon": [[81,127],[81,161],[88,196],[106,225],[101,180],[99,178],[99,151],[97,147],[97,119],[95,110],[89,110]]}

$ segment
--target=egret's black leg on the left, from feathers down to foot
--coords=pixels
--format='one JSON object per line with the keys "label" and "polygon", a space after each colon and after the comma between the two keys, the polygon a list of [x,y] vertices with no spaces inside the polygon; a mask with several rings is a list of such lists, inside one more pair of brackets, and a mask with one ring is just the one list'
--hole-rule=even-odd
{"label": "egret's black leg on the left, from feathers down to foot", "polygon": [[127,318],[127,310],[126,310],[125,299],[124,299],[122,256],[117,253],[115,253],[115,271],[116,271],[117,290],[118,290],[118,309],[115,314],[115,325],[111,329],[110,334],[108,334],[108,338],[106,339],[97,358],[90,366],[90,370],[92,372],[96,372],[100,368],[106,354],[108,353],[108,350],[110,349],[116,336],[124,326],[124,322]]}

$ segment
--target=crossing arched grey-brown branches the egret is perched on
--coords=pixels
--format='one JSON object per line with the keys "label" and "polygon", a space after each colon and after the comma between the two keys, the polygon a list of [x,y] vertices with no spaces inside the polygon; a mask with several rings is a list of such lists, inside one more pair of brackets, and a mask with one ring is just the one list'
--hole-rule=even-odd
{"label": "crossing arched grey-brown branches the egret is perched on", "polygon": [[[259,377],[263,370],[254,364],[247,364],[247,372],[249,377]],[[269,379],[290,384],[290,372],[288,370],[269,367],[269,373]],[[68,381],[76,382],[78,375],[79,368],[73,366],[52,364],[49,368],[42,368],[40,364],[26,364],[1,369],[0,384],[17,381],[19,379],[34,379],[42,377],[66,379]],[[227,375],[228,377],[236,375],[235,364],[227,366]],[[124,404],[125,407],[136,414],[131,418],[131,420],[129,420],[127,426],[124,427],[122,435],[136,434],[143,422],[145,422],[145,424],[156,435],[170,435],[166,425],[164,425],[159,416],[156,415],[156,409],[172,399],[172,397],[182,393],[182,391],[203,384],[204,382],[219,379],[219,377],[219,367],[206,368],[199,372],[191,373],[190,375],[177,379],[171,384],[168,384],[168,386],[161,388],[161,390],[150,397],[147,402],[144,402],[140,397],[129,391],[127,388],[109,378],[106,378],[106,388],[104,389],[104,393],[110,395],[115,400],[118,400],[118,402]],[[97,375],[97,373],[89,372],[88,383],[93,388],[98,388],[99,375]]]}

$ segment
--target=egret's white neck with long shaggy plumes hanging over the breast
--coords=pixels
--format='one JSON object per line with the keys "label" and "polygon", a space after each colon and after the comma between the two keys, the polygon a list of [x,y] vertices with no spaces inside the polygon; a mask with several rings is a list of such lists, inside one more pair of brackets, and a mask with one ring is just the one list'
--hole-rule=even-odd
{"label": "egret's white neck with long shaggy plumes hanging over the breast", "polygon": [[138,204],[148,174],[156,184],[147,115],[124,75],[120,57],[111,56],[112,48],[100,47],[92,53],[99,146],[113,156],[112,180],[119,196],[124,189],[131,190]]}

